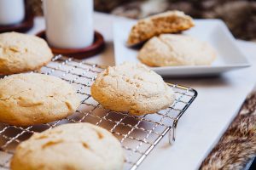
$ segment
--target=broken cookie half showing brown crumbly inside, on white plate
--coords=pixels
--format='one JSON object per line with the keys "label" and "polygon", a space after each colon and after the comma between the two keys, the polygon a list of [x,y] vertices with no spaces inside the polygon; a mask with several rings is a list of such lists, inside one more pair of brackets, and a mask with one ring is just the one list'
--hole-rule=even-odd
{"label": "broken cookie half showing brown crumbly inside, on white plate", "polygon": [[131,28],[127,45],[134,46],[162,33],[177,33],[188,30],[192,26],[195,26],[192,18],[181,11],[155,14],[137,21],[137,24]]}

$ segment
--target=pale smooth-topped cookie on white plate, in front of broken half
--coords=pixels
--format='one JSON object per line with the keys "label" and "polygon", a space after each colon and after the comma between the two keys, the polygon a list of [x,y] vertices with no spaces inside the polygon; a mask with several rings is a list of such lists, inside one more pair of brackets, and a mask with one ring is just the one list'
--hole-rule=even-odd
{"label": "pale smooth-topped cookie on white plate, in front of broken half", "polygon": [[216,53],[207,42],[194,37],[162,34],[148,40],[137,58],[149,66],[211,65]]}

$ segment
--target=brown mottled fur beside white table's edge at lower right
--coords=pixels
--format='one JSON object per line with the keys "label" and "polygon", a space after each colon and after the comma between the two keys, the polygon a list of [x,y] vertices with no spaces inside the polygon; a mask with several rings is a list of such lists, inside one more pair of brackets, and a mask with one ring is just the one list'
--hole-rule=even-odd
{"label": "brown mottled fur beside white table's edge at lower right", "polygon": [[235,121],[202,162],[201,169],[243,169],[253,156],[256,156],[256,92],[248,96]]}

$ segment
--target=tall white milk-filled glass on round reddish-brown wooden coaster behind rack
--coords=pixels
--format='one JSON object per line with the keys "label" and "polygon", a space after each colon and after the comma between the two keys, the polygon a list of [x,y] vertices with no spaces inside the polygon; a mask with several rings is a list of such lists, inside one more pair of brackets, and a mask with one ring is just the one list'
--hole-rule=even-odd
{"label": "tall white milk-filled glass on round reddish-brown wooden coaster behind rack", "polygon": [[93,0],[43,0],[43,8],[51,46],[84,48],[93,42]]}

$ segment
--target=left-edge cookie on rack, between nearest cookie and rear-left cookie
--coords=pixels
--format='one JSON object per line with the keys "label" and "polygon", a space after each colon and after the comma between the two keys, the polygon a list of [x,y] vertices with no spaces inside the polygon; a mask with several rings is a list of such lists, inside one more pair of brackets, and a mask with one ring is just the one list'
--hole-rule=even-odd
{"label": "left-edge cookie on rack, between nearest cookie and rear-left cookie", "polygon": [[73,114],[79,104],[72,86],[58,77],[21,73],[0,80],[0,122],[53,122]]}

